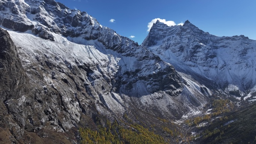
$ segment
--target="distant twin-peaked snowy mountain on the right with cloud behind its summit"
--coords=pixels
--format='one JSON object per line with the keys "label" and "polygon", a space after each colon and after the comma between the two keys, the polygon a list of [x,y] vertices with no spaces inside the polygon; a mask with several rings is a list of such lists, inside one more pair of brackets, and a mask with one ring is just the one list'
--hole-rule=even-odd
{"label": "distant twin-peaked snowy mountain on the right with cloud behind its summit", "polygon": [[247,37],[213,36],[189,21],[172,27],[158,21],[142,46],[177,70],[197,74],[227,91],[245,92],[256,85],[256,41]]}

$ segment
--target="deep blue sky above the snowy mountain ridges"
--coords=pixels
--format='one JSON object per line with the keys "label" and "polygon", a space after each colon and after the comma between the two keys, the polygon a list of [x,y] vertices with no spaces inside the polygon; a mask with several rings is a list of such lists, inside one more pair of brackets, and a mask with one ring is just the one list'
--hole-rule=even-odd
{"label": "deep blue sky above the snowy mountain ridges", "polygon": [[[256,40],[256,0],[57,0],[87,12],[121,36],[140,45],[152,19],[171,24],[189,20],[216,36],[244,35]],[[111,20],[112,19],[112,20]],[[113,20],[114,19],[114,20]],[[111,21],[110,21],[111,20]]]}

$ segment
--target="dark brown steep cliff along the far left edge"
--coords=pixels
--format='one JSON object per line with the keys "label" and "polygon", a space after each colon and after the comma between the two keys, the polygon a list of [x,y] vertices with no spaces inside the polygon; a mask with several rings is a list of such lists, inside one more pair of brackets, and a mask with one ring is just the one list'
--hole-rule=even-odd
{"label": "dark brown steep cliff along the far left edge", "polygon": [[19,61],[16,46],[3,29],[0,29],[0,73],[0,126],[12,131],[10,139],[15,141],[15,138],[21,138],[24,134],[25,113],[20,101],[28,90],[25,88],[28,79]]}

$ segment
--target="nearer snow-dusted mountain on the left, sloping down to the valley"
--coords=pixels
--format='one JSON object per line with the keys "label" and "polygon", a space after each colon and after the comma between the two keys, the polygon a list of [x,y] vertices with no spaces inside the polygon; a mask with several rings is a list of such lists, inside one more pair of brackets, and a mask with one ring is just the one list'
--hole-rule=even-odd
{"label": "nearer snow-dusted mountain on the left, sloping down to the valley", "polygon": [[26,132],[64,132],[99,114],[113,119],[137,111],[180,119],[211,95],[86,12],[54,0],[0,0],[0,9],[7,30],[1,28],[3,117],[17,119],[1,122],[13,143]]}

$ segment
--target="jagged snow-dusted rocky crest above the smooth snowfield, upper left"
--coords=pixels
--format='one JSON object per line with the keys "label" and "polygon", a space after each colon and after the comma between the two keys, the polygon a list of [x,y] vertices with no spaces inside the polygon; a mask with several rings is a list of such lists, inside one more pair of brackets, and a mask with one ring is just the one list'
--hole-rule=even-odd
{"label": "jagged snow-dusted rocky crest above the smooth snowfield, upper left", "polygon": [[[138,46],[138,43],[127,37],[116,35],[115,31],[103,27],[86,12],[69,9],[54,0],[1,0],[0,9],[3,10],[0,16],[3,27],[21,32],[32,30],[43,39],[54,41],[49,32],[66,37],[81,36],[86,40],[98,39],[107,49],[120,53],[131,51],[132,47]],[[111,34],[108,35],[109,33]]]}

